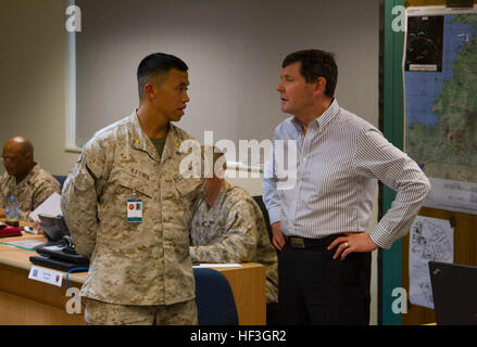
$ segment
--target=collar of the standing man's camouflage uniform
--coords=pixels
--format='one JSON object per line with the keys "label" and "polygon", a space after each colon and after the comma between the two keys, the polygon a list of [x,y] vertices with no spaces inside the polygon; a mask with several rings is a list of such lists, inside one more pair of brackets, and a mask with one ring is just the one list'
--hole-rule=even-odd
{"label": "collar of the standing man's camouflage uniform", "polygon": [[160,158],[158,151],[152,144],[152,141],[141,128],[136,110],[133,112],[129,118],[133,123],[130,145],[134,149],[148,153],[149,156],[158,163],[161,163],[162,160],[172,157],[174,153],[178,152],[181,139],[179,138],[177,133],[177,128],[174,125],[172,125],[171,123],[168,124],[164,151],[162,153],[162,157]]}

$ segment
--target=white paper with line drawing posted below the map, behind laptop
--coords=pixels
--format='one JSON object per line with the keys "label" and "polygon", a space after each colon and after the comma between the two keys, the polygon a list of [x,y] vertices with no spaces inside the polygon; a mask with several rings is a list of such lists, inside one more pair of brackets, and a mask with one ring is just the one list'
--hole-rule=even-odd
{"label": "white paper with line drawing posted below the map, behind laptop", "polygon": [[410,233],[410,301],[434,309],[429,260],[453,262],[454,229],[447,219],[417,216]]}

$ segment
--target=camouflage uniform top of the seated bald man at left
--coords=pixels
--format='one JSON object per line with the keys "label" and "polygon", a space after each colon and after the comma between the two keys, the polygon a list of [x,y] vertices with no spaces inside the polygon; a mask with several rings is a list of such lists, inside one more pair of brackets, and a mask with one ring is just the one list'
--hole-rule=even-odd
{"label": "camouflage uniform top of the seated bald man at left", "polygon": [[16,178],[7,172],[0,178],[0,208],[5,208],[7,201],[14,195],[18,202],[20,220],[28,220],[29,214],[53,193],[61,193],[60,182],[38,164],[18,184]]}

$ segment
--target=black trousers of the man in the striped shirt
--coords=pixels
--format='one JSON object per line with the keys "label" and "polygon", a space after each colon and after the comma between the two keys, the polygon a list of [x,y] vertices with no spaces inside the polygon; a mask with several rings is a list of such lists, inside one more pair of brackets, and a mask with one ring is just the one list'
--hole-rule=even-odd
{"label": "black trousers of the man in the striped shirt", "polygon": [[278,305],[281,324],[368,325],[371,253],[332,259],[337,249],[323,245],[278,252]]}

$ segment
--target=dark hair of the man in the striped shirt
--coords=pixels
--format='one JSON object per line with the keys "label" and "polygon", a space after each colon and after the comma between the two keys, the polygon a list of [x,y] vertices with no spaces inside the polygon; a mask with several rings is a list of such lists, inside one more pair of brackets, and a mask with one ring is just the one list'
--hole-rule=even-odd
{"label": "dark hair of the man in the striped shirt", "polygon": [[316,81],[318,77],[326,79],[325,94],[335,98],[335,89],[338,80],[338,65],[335,54],[321,50],[303,50],[288,54],[281,67],[301,62],[300,74],[307,83]]}

